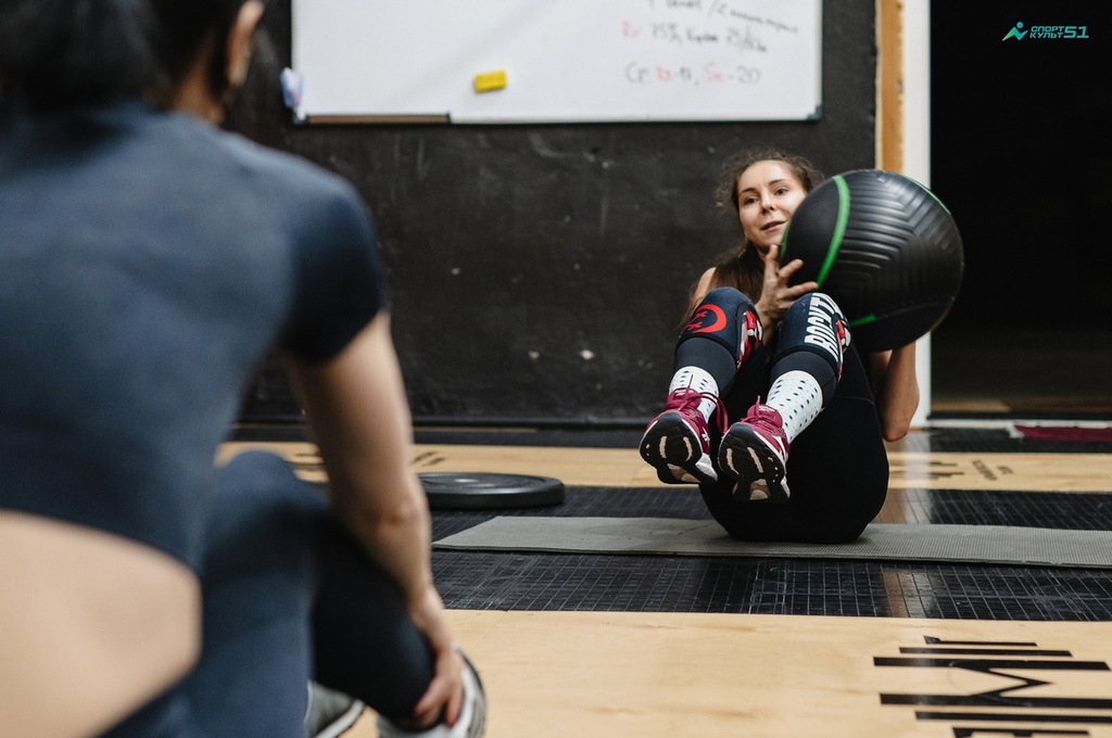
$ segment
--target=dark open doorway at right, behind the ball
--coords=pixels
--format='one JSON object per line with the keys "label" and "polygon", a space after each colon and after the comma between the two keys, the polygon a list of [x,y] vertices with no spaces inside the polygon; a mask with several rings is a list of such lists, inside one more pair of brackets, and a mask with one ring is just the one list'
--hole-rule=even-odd
{"label": "dark open doorway at right, behind the ball", "polygon": [[[1088,40],[1002,39],[1016,22]],[[932,189],[965,243],[935,331],[936,400],[1112,410],[1109,3],[932,2]]]}

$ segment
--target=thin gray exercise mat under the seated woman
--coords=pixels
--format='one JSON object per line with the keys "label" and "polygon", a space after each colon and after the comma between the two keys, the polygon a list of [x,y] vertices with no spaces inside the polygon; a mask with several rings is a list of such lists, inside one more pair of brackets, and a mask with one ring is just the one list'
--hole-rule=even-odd
{"label": "thin gray exercise mat under the seated woman", "polygon": [[1112,531],[873,523],[852,543],[747,543],[713,520],[497,517],[434,543],[439,549],[960,561],[1112,569]]}

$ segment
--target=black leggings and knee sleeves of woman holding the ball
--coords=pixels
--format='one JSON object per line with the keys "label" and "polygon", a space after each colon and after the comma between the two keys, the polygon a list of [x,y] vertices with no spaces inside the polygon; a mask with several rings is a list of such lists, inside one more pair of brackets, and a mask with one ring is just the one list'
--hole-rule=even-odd
{"label": "black leggings and knee sleeves of woman holding the ball", "polygon": [[788,310],[771,361],[764,343],[753,340],[753,302],[729,288],[712,291],[703,302],[714,307],[713,315],[726,316],[722,330],[688,326],[676,346],[676,369],[694,365],[715,376],[731,423],[765,399],[775,378],[787,370],[817,375],[824,390],[823,411],[792,442],[787,503],[738,501],[734,481],[722,473],[717,482],[699,486],[714,519],[741,540],[850,542],[876,517],[887,495],[887,453],[864,365],[853,346],[837,363],[822,341],[804,340],[812,299],[814,293],[804,296]]}

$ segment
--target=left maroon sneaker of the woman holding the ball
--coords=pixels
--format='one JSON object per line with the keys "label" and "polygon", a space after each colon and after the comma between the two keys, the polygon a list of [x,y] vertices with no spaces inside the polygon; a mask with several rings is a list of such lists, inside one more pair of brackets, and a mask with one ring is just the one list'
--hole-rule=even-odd
{"label": "left maroon sneaker of the woman holding the ball", "polygon": [[679,387],[668,395],[664,412],[656,416],[641,439],[641,458],[656,467],[656,476],[668,485],[717,481],[718,472],[711,456],[711,427],[699,411],[704,400],[713,400],[718,423],[725,425],[725,410],[717,396],[691,387]]}

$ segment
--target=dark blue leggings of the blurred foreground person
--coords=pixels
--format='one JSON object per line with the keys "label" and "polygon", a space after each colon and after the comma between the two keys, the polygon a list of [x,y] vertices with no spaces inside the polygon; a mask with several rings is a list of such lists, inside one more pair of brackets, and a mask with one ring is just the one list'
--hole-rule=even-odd
{"label": "dark blue leggings of the blurred foreground person", "polygon": [[107,735],[305,738],[310,679],[408,718],[430,650],[322,492],[250,451],[219,470],[212,509],[200,664]]}

